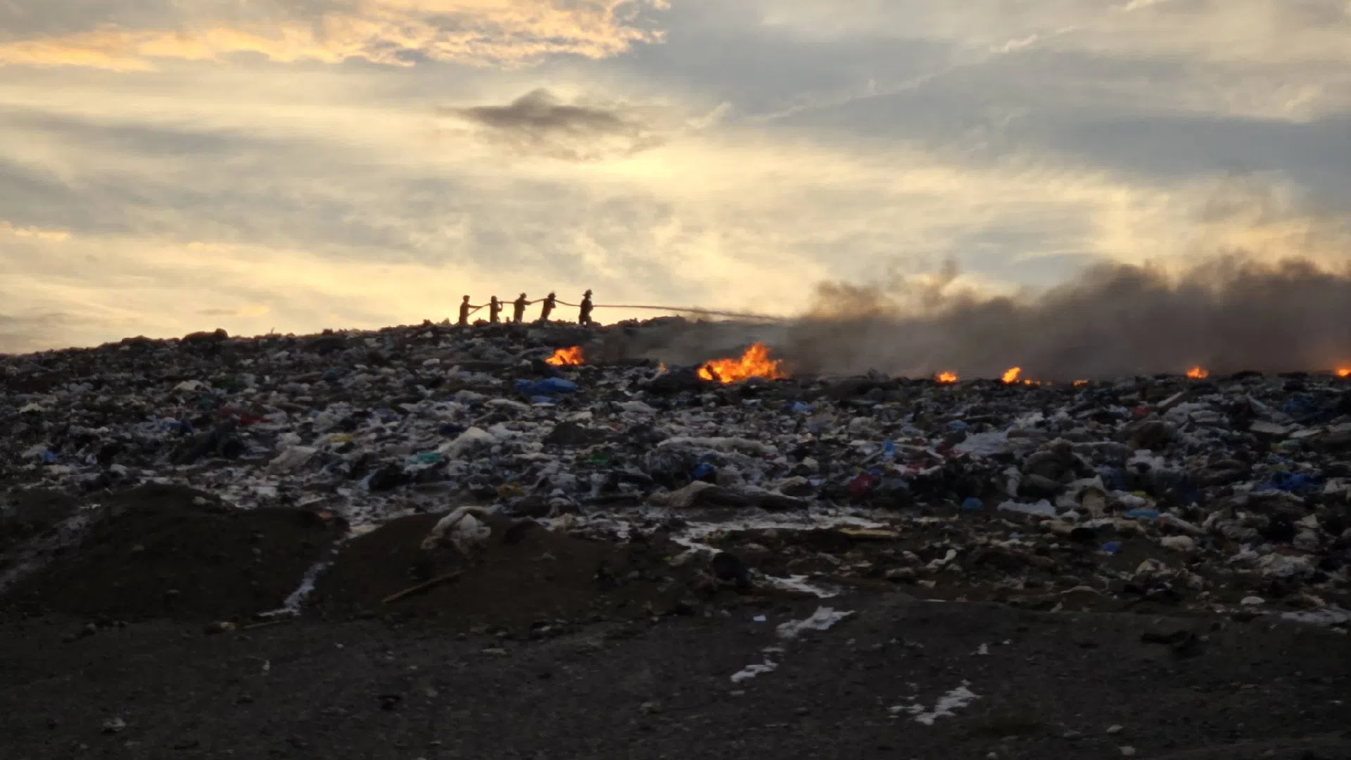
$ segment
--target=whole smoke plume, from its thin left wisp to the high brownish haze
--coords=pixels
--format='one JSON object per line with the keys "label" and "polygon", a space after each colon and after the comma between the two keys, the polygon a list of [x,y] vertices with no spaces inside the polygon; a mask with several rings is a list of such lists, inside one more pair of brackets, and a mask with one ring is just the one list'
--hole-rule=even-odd
{"label": "whole smoke plume, from its thin left wisp to the high brownish haze", "polygon": [[[786,325],[703,323],[642,338],[669,364],[763,341],[793,373],[1039,380],[1351,366],[1351,215],[1260,180],[1228,179],[1194,210],[1186,264],[1104,262],[1012,296],[963,288],[950,261],[924,277],[828,281]],[[665,333],[665,334],[663,334]]]}

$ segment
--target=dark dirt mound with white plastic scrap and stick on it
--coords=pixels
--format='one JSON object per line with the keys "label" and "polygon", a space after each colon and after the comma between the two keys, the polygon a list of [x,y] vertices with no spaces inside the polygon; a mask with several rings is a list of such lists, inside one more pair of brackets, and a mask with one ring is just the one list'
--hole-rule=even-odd
{"label": "dark dirt mound with white plastic scrap and stick on it", "polygon": [[[490,517],[485,550],[466,560],[451,549],[422,548],[440,517],[396,519],[353,540],[319,579],[308,607],[336,615],[435,619],[462,630],[515,630],[689,613],[690,603],[735,596],[712,581],[708,563],[671,563],[682,549],[662,537],[592,541],[532,521]],[[423,592],[384,602],[457,571],[461,575]]]}

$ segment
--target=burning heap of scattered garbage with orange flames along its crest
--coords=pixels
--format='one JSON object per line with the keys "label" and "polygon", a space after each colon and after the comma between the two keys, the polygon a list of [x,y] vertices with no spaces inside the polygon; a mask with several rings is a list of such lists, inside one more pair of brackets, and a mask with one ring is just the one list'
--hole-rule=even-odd
{"label": "burning heap of scattered garbage with orange flames along its crest", "polygon": [[[662,595],[688,609],[717,588],[900,587],[1044,610],[1351,622],[1342,373],[823,379],[794,376],[763,343],[685,368],[659,366],[659,353],[593,360],[607,330],[643,329],[218,331],[0,357],[0,594],[53,588],[47,565],[73,561],[54,548],[118,519],[109,504],[132,490],[168,488],[212,519],[308,515],[295,594],[250,598],[292,611],[339,587],[380,604],[413,580],[454,576],[443,592],[470,594],[474,573],[515,572],[482,580],[485,598],[542,577],[577,599],[601,581],[628,588],[639,610]],[[457,513],[473,515],[455,522],[463,537],[428,540],[458,507],[473,508]],[[99,550],[162,559],[138,530]],[[249,548],[262,533],[239,531],[249,563],[263,561]],[[628,560],[601,545],[651,561],[617,572]],[[435,552],[480,564],[432,572]],[[592,564],[534,569],[563,556]],[[384,586],[376,567],[389,568]],[[409,579],[409,567],[424,569]],[[549,588],[542,598],[573,599]],[[585,617],[586,604],[566,609]]]}

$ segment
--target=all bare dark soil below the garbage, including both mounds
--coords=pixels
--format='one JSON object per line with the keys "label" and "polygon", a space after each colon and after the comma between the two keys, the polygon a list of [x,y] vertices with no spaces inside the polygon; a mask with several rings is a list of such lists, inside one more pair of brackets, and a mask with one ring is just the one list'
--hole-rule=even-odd
{"label": "all bare dark soil below the garbage, including both mounds", "polygon": [[[31,504],[39,544],[92,507]],[[422,549],[440,515],[336,546],[340,521],[186,488],[97,506],[77,513],[96,518],[78,545],[5,595],[0,757],[1351,759],[1344,632],[1071,613],[1058,591],[1056,613],[969,603],[959,575],[923,588],[867,569],[940,557],[942,536],[731,531],[715,542],[732,554],[673,561],[661,534],[616,544],[501,517],[465,559]],[[251,619],[326,559],[300,618]],[[1028,569],[978,549],[963,561]],[[747,568],[859,572],[807,600],[744,588]],[[855,614],[775,634],[821,604]],[[958,687],[974,702],[915,719]]]}

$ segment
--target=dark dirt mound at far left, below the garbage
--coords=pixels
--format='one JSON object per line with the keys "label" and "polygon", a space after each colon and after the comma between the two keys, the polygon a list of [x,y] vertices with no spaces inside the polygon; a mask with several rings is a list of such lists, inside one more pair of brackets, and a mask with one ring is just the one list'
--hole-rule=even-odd
{"label": "dark dirt mound at far left, below the garbage", "polygon": [[173,485],[103,500],[104,515],[14,590],[35,613],[136,621],[238,619],[277,609],[346,530],[286,508],[236,510]]}

